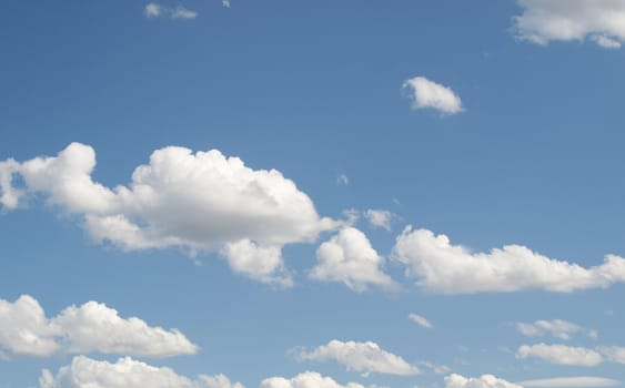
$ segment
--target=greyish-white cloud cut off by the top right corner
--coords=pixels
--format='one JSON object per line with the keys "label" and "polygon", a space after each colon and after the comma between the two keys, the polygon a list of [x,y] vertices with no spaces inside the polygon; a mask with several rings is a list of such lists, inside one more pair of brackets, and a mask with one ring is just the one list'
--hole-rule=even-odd
{"label": "greyish-white cloud cut off by the top right corner", "polygon": [[618,49],[625,41],[625,2],[621,0],[518,0],[514,18],[520,39],[537,44],[592,39]]}

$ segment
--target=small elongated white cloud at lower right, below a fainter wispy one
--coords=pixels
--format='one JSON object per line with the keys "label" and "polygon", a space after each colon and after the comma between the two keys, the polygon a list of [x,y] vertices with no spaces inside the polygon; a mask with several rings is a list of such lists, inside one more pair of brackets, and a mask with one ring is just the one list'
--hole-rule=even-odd
{"label": "small elongated white cloud at lower right, below a fainter wispy one", "polygon": [[523,345],[516,351],[516,358],[537,357],[551,364],[592,367],[603,361],[601,354],[584,347],[565,345]]}

